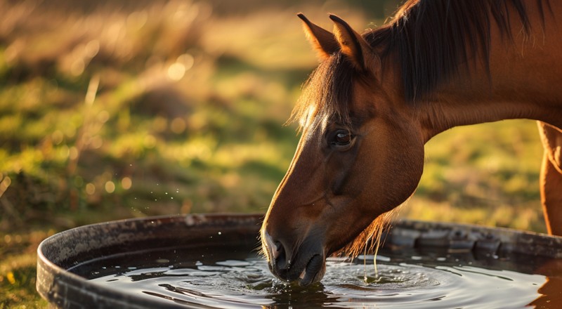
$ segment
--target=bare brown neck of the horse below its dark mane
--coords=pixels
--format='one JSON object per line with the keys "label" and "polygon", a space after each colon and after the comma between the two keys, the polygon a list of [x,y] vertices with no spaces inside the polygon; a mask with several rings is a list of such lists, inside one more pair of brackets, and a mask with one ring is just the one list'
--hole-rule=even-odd
{"label": "bare brown neck of the horse below its dark mane", "polygon": [[502,119],[535,119],[562,129],[562,25],[554,22],[562,1],[552,2],[544,29],[532,21],[530,34],[514,41],[492,29],[489,67],[477,58],[413,105],[425,140],[455,126]]}

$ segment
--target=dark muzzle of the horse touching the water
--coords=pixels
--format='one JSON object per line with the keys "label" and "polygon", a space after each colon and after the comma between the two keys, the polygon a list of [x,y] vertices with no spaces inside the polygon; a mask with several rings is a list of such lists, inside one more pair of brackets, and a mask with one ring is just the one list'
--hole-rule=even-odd
{"label": "dark muzzle of the horse touching the water", "polygon": [[319,282],[326,272],[322,242],[306,237],[293,251],[289,244],[270,237],[262,231],[263,251],[268,258],[269,270],[275,277],[286,282],[298,282],[301,286]]}

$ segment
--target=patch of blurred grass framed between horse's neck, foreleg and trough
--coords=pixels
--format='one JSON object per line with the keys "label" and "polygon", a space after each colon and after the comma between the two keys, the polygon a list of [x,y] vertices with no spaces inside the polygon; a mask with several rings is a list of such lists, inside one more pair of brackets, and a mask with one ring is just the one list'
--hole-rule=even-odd
{"label": "patch of blurred grass framed between horse's neck, foreleg and trough", "polygon": [[537,132],[535,121],[509,120],[436,136],[426,145],[424,174],[401,215],[546,232]]}

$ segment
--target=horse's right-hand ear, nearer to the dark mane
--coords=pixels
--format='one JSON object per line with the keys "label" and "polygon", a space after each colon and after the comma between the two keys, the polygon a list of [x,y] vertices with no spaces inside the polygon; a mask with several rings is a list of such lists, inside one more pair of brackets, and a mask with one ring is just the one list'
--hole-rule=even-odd
{"label": "horse's right-hand ear, nearer to the dark mane", "polygon": [[371,46],[360,34],[355,32],[347,22],[330,14],[329,18],[334,22],[334,34],[341,48],[341,52],[347,55],[356,69],[365,71],[369,65],[370,58],[378,60]]}

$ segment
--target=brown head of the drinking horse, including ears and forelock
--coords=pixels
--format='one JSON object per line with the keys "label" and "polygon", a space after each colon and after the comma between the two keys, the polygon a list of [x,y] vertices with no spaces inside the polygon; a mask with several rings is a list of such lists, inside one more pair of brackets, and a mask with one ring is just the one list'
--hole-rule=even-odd
{"label": "brown head of the drinking horse, including ears and forelock", "polygon": [[365,244],[379,219],[412,195],[424,138],[392,57],[381,61],[376,46],[335,15],[333,33],[299,17],[320,64],[294,110],[301,139],[261,241],[274,275],[306,285],[322,279],[327,256],[354,239]]}

